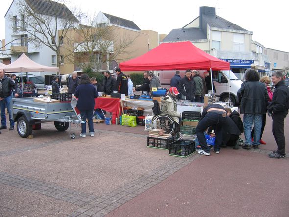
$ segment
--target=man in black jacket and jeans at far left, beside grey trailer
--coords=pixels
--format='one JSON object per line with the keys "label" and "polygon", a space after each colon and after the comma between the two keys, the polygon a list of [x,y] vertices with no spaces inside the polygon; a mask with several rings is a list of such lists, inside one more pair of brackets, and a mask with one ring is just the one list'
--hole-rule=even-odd
{"label": "man in black jacket and jeans at far left, beside grey trailer", "polygon": [[15,90],[15,97],[18,97],[17,84],[12,81],[10,77],[5,75],[5,71],[0,69],[0,82],[2,84],[2,91],[0,92],[0,107],[1,107],[1,127],[0,129],[7,129],[5,107],[9,113],[10,128],[14,130],[14,120],[12,117],[11,101],[12,90]]}

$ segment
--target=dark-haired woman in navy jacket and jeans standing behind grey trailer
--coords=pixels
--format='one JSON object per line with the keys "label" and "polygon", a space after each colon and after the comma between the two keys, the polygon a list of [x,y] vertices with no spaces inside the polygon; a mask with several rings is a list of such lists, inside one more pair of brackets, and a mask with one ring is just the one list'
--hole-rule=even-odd
{"label": "dark-haired woman in navy jacket and jeans standing behind grey trailer", "polygon": [[[78,98],[76,107],[80,111],[81,119],[83,121],[88,121],[88,128],[90,136],[94,136],[94,124],[92,121],[92,116],[95,107],[95,98],[98,97],[98,92],[96,88],[90,83],[87,74],[81,75],[81,80],[79,85],[75,90],[75,97]],[[81,124],[81,137],[86,137],[86,123]]]}

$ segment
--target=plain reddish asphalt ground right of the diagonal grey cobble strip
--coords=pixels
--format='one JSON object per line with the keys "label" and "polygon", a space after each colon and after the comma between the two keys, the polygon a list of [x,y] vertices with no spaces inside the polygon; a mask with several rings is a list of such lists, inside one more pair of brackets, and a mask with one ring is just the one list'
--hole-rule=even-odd
{"label": "plain reddish asphalt ground right of the diagonal grey cobble strip", "polygon": [[[289,117],[284,128],[289,141]],[[267,117],[262,149],[276,149],[271,132]],[[200,156],[106,216],[289,217],[289,158],[223,148],[220,154]]]}

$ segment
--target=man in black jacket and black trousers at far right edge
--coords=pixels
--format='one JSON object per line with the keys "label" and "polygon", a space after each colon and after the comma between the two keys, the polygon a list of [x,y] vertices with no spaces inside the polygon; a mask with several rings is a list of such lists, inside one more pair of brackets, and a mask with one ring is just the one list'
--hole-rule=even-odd
{"label": "man in black jacket and black trousers at far right edge", "polygon": [[281,72],[272,74],[272,82],[275,84],[275,91],[272,102],[268,106],[268,113],[272,114],[272,130],[278,149],[269,154],[269,157],[285,158],[284,119],[289,109],[289,89],[285,85]]}

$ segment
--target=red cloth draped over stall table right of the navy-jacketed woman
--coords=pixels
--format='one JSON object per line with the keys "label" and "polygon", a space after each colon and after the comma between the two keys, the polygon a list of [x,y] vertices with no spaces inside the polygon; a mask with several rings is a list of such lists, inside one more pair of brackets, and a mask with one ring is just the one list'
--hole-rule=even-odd
{"label": "red cloth draped over stall table right of the navy-jacketed woman", "polygon": [[116,118],[119,116],[120,98],[98,97],[95,99],[95,109],[101,108],[112,113],[112,124],[116,124]]}

